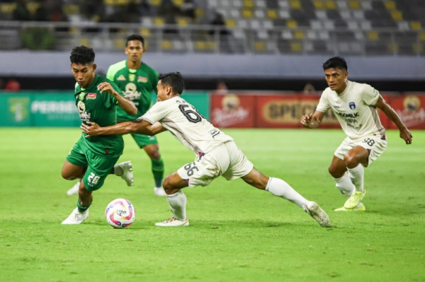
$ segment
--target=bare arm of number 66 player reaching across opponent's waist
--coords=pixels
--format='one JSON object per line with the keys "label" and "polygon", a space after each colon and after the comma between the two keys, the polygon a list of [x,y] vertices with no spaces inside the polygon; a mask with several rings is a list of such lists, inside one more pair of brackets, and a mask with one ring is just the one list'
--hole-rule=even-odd
{"label": "bare arm of number 66 player reaching across opponent's waist", "polygon": [[86,137],[98,135],[123,135],[129,133],[154,135],[164,131],[162,130],[162,125],[160,127],[157,124],[152,126],[152,124],[143,119],[135,122],[120,122],[110,127],[99,127],[96,122],[87,122],[87,124],[81,124],[80,128],[81,131],[87,134]]}

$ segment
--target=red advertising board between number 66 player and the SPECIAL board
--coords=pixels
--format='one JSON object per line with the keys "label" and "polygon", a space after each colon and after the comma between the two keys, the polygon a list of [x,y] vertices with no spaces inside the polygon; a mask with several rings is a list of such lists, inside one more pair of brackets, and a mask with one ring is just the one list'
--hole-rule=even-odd
{"label": "red advertising board between number 66 player and the SPECIAL board", "polygon": [[218,128],[251,128],[255,124],[256,96],[249,94],[211,95],[211,123]]}

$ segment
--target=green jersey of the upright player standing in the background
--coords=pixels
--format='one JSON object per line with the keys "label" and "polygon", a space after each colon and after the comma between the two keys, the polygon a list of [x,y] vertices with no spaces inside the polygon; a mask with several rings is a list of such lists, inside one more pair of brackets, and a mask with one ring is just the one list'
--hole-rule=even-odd
{"label": "green jersey of the upright player standing in the background", "polygon": [[157,71],[143,62],[139,69],[129,69],[125,60],[110,66],[106,77],[115,82],[137,107],[137,114],[128,114],[119,107],[117,110],[119,121],[136,120],[149,110],[152,103],[152,91],[157,91]]}

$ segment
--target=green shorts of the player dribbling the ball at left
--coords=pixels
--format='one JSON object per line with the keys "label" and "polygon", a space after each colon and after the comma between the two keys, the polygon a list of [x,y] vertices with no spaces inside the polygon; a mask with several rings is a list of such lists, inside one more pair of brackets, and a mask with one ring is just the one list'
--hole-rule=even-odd
{"label": "green shorts of the player dribbling the ball at left", "polygon": [[96,155],[81,141],[78,141],[67,155],[69,163],[87,168],[83,181],[84,186],[89,191],[95,191],[102,187],[103,182],[105,182],[119,158],[119,156],[103,158]]}

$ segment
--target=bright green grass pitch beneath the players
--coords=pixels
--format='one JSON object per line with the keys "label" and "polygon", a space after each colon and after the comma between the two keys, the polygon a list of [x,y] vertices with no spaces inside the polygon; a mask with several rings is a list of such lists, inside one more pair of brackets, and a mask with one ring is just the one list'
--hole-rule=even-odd
{"label": "bright green grass pitch beneath the players", "polygon": [[[171,216],[153,194],[150,161],[130,136],[135,186],[111,175],[81,225],[60,223],[77,196],[66,192],[64,159],[77,128],[0,129],[0,281],[425,281],[425,131],[406,146],[388,131],[387,151],[365,169],[363,213],[335,212],[344,197],[327,172],[341,130],[225,132],[256,168],[280,177],[331,218],[321,228],[302,209],[242,180],[184,189],[191,225],[159,228]],[[158,136],[166,174],[193,154]],[[136,220],[115,230],[106,205],[124,197]]]}

